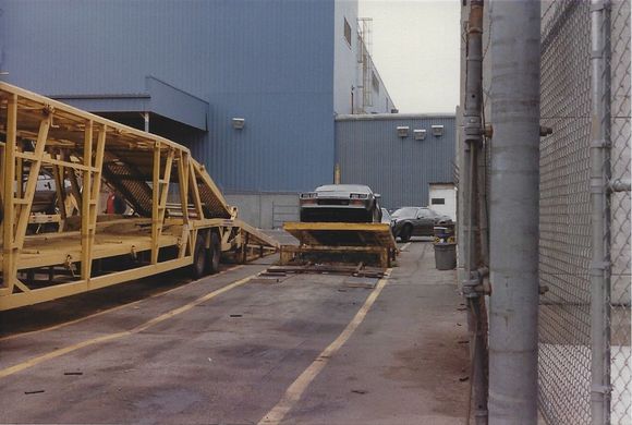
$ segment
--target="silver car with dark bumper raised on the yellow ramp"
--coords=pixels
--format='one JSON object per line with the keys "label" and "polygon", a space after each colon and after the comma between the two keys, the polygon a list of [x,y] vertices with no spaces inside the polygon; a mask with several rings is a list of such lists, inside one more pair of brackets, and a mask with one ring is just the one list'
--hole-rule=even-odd
{"label": "silver car with dark bumper raised on the yellow ramp", "polygon": [[362,184],[327,184],[299,199],[303,222],[380,222],[380,195]]}

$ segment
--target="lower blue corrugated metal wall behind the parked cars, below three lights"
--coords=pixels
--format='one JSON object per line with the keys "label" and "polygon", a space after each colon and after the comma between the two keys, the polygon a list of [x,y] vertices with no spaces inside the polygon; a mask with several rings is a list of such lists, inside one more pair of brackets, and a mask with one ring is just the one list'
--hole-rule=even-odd
{"label": "lower blue corrugated metal wall behind the parked cars, below three lights", "polygon": [[[443,125],[443,135],[433,136],[432,125]],[[399,137],[398,126],[409,126],[409,136]],[[338,119],[342,183],[369,185],[387,208],[427,205],[429,183],[453,181],[454,126],[450,116]],[[424,141],[414,139],[415,129],[426,130]]]}

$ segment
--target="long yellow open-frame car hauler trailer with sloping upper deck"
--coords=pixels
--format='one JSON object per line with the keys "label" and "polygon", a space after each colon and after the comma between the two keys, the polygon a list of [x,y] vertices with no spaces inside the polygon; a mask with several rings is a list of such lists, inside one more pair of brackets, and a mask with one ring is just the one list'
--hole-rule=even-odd
{"label": "long yellow open-frame car hauler trailer with sloping upper deck", "polygon": [[[222,254],[278,247],[236,219],[186,147],[5,83],[0,167],[0,311],[184,266],[200,277]],[[54,181],[56,220],[33,214],[41,175]],[[102,214],[102,184],[133,212]],[[42,221],[54,224],[35,231]]]}

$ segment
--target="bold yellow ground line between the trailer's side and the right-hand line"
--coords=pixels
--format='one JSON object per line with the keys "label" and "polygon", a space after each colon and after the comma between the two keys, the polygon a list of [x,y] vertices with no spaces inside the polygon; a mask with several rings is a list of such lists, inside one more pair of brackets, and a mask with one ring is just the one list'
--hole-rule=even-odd
{"label": "bold yellow ground line between the trailer's side and the right-hand line", "polygon": [[228,292],[228,291],[230,291],[230,290],[232,290],[234,288],[241,287],[242,284],[246,283],[247,281],[250,281],[251,279],[253,279],[258,274],[251,275],[251,276],[245,277],[243,279],[240,279],[240,280],[238,280],[235,282],[232,282],[230,284],[227,284],[223,288],[220,288],[218,290],[215,290],[212,292],[209,292],[206,295],[203,295],[203,296],[196,299],[195,301],[192,301],[189,304],[185,304],[185,305],[183,305],[181,307],[178,307],[178,308],[171,309],[171,311],[169,311],[169,312],[167,312],[165,314],[161,314],[160,316],[155,317],[155,318],[153,318],[153,319],[150,319],[148,321],[145,321],[144,324],[138,325],[138,326],[136,326],[133,329],[124,330],[122,332],[106,335],[106,336],[98,337],[98,338],[94,338],[94,339],[89,339],[89,340],[86,340],[86,341],[82,341],[82,342],[78,342],[78,343],[73,344],[73,345],[64,347],[63,349],[57,349],[57,350],[51,351],[50,353],[47,353],[47,354],[38,355],[38,356],[33,357],[33,359],[29,359],[29,360],[27,360],[25,362],[19,363],[19,364],[16,364],[14,366],[7,367],[4,369],[0,369],[0,378],[4,378],[7,376],[10,376],[10,375],[16,374],[19,372],[22,372],[24,369],[27,369],[29,367],[37,366],[38,364],[44,363],[44,362],[46,362],[48,360],[57,359],[57,357],[62,356],[64,354],[68,354],[68,353],[71,353],[73,351],[83,349],[84,347],[98,344],[100,342],[111,341],[113,339],[118,339],[118,338],[131,336],[131,335],[134,335],[134,333],[142,332],[143,330],[147,330],[151,326],[158,325],[159,323],[162,323],[162,321],[165,321],[165,320],[167,320],[167,319],[169,319],[171,317],[178,316],[178,315],[180,315],[180,314],[182,314],[184,312],[190,311],[191,308],[195,307],[196,305],[199,305],[199,304],[202,304],[202,303],[204,303],[206,301],[209,301],[209,300],[211,300],[211,299],[214,299],[214,298],[216,298],[218,295],[221,295],[224,292]]}

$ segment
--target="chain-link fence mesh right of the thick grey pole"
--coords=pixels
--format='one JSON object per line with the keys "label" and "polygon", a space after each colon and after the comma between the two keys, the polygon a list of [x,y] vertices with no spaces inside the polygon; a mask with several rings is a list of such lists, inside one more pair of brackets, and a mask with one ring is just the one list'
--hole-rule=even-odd
{"label": "chain-link fence mesh right of the thick grey pole", "polygon": [[[610,423],[632,424],[630,318],[630,2],[609,4],[610,155],[604,165],[617,191],[603,211],[609,252],[604,258]],[[539,405],[549,424],[591,424],[592,95],[591,4],[545,1],[542,15]],[[606,108],[608,109],[608,108]],[[601,119],[601,118],[597,118]],[[608,138],[608,137],[607,137]],[[623,189],[623,190],[622,190]],[[608,279],[609,278],[609,279]],[[608,371],[606,371],[608,374]]]}

